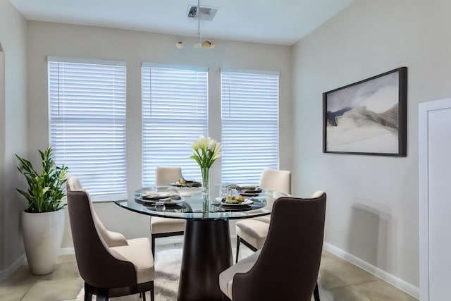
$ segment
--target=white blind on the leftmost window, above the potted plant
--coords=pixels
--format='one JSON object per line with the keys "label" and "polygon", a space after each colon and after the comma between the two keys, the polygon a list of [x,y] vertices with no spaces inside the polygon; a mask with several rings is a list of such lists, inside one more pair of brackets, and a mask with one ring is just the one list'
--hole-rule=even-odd
{"label": "white blind on the leftmost window, above the potted plant", "polygon": [[50,145],[92,199],[127,197],[125,63],[49,57]]}

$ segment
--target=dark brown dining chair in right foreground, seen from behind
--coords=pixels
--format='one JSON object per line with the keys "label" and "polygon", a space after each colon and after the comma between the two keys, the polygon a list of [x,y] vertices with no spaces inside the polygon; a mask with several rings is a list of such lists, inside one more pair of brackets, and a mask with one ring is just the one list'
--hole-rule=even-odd
{"label": "dark brown dining chair in right foreground, seen from behind", "polygon": [[[261,250],[219,275],[224,299],[319,301],[326,193],[311,199],[280,197],[273,204]],[[296,235],[293,235],[296,233]]]}

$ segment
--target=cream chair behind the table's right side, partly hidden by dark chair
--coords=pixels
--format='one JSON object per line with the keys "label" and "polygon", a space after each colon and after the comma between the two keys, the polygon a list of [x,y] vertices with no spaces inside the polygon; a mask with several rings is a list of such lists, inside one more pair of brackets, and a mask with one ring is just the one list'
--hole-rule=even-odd
{"label": "cream chair behind the table's right side, partly hidden by dark chair", "polygon": [[[291,195],[291,172],[265,168],[261,173],[259,187]],[[263,247],[266,234],[268,233],[270,219],[270,216],[261,216],[254,219],[245,219],[236,223],[236,262],[238,262],[238,255],[240,254],[240,242],[254,252]]]}

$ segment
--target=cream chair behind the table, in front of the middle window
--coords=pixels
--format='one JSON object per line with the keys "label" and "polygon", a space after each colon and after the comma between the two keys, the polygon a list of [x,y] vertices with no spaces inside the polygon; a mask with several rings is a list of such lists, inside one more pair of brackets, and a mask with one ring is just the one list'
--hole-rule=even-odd
{"label": "cream chair behind the table, in front of the middle window", "polygon": [[[155,185],[157,187],[167,186],[182,178],[182,168],[158,166],[155,170],[155,176]],[[155,238],[183,235],[183,232],[185,231],[185,220],[150,216],[149,226],[152,238],[152,253],[155,254]]]}

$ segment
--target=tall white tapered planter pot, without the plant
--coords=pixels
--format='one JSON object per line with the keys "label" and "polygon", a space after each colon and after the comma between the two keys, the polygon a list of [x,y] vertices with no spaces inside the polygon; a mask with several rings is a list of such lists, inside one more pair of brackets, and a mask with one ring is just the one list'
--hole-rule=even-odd
{"label": "tall white tapered planter pot, without the plant", "polygon": [[56,256],[63,240],[65,212],[22,212],[23,244],[30,271],[46,275],[54,271]]}

